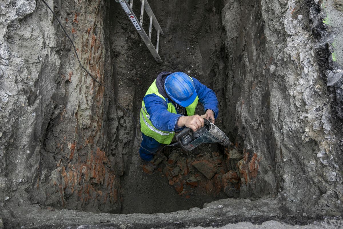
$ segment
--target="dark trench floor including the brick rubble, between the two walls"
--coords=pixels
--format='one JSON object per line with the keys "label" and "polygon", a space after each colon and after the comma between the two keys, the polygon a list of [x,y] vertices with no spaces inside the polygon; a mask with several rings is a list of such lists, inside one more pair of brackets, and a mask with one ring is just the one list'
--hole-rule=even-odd
{"label": "dark trench floor including the brick rubble, between the two walls", "polygon": [[[163,57],[162,64],[156,64],[138,33],[132,31],[131,22],[122,13],[122,9],[113,9],[116,15],[116,25],[110,30],[114,33],[110,36],[110,43],[114,46],[116,66],[119,66],[116,68],[119,97],[121,91],[134,95],[129,97],[129,101],[123,101],[123,103],[132,103],[135,114],[140,112],[141,100],[146,90],[162,71],[186,72],[213,89],[220,104],[224,104],[226,98],[221,93],[221,85],[217,80],[221,81],[227,76],[225,72],[218,72],[217,67],[219,66],[222,71],[228,67],[221,57],[213,57],[217,51],[224,48],[224,28],[219,26],[222,24],[220,13],[224,5],[223,3],[215,4],[206,1],[188,1],[187,3],[174,2],[165,7],[166,4],[161,4],[161,2],[150,3],[159,23],[164,25],[165,35],[160,36],[159,42],[159,54]],[[135,5],[133,11],[139,12],[140,4]],[[217,26],[213,27],[213,25]],[[146,31],[148,26],[148,23],[143,23]],[[152,41],[154,38],[153,36]],[[234,110],[234,106],[230,111],[222,108],[216,124],[220,128],[232,125],[224,120]],[[198,106],[197,113],[200,115],[204,113],[201,105]],[[234,129],[226,128],[225,132],[232,137],[233,142],[242,143]],[[124,162],[128,165],[121,178],[123,195],[121,213],[167,213],[192,207],[201,208],[204,203],[217,199],[239,197],[241,178],[238,162],[242,160],[240,168],[244,170],[242,172],[246,172],[246,163],[249,158],[246,161],[243,160],[243,149],[241,149],[240,158],[229,159],[231,150],[216,145],[212,148],[203,145],[185,154],[180,148],[173,148],[171,152],[165,152],[166,159],[151,175],[153,168],[148,165],[141,168],[142,161],[138,154],[135,154],[138,152],[136,144],[129,152],[132,154],[128,156],[131,162]],[[170,154],[178,155],[173,165],[168,164]],[[252,160],[252,155],[249,160]],[[259,159],[254,158],[254,160]],[[198,168],[194,167],[194,164],[199,164],[199,162]],[[206,168],[203,169],[203,167]],[[206,172],[201,172],[202,169],[211,172],[205,174]],[[191,180],[196,186],[188,182]],[[263,195],[270,194],[272,191],[272,189],[266,190]],[[254,195],[253,192],[248,191],[245,192],[244,197]]]}

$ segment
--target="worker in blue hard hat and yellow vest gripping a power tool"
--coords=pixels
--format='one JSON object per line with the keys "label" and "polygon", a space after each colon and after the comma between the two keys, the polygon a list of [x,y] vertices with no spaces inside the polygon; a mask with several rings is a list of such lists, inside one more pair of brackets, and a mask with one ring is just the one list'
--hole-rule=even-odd
{"label": "worker in blue hard hat and yellow vest gripping a power tool", "polygon": [[[205,111],[201,116],[194,114],[198,101],[203,104]],[[217,116],[217,97],[199,80],[184,72],[159,73],[142,101],[141,158],[151,161],[161,144],[170,144],[175,132],[184,127],[196,131],[204,125],[203,118],[214,123]]]}

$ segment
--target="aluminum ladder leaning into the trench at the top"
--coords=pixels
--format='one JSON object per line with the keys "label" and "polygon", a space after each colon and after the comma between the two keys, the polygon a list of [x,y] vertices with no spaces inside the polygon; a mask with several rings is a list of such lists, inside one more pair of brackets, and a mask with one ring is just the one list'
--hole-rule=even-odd
{"label": "aluminum ladder leaning into the trench at the top", "polygon": [[[133,5],[133,0],[130,0],[130,4],[128,0],[116,0],[116,2],[119,2],[123,10],[126,12],[126,15],[128,15],[129,19],[131,20],[133,26],[136,28],[137,32],[139,35],[142,37],[146,47],[150,50],[151,54],[157,61],[157,63],[162,63],[161,57],[158,55],[158,45],[159,45],[159,34],[161,33],[162,35],[164,34],[162,31],[161,26],[159,26],[158,21],[152,12],[150,5],[147,0],[140,0],[142,3],[141,6],[141,16],[140,16],[140,21],[138,21],[137,16],[133,13],[132,11],[132,5]],[[143,15],[144,15],[144,9],[147,15],[150,18],[150,25],[149,25],[149,36],[146,35],[144,28],[143,28]],[[151,31],[152,31],[152,26],[154,25],[155,30],[157,31],[157,41],[156,41],[156,48],[151,42]]]}

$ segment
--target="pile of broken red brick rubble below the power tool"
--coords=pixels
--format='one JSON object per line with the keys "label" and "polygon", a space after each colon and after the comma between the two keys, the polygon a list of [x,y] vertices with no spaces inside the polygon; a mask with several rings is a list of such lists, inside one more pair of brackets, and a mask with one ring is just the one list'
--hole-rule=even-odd
{"label": "pile of broken red brick rubble below the power tool", "polygon": [[244,161],[243,154],[227,148],[219,153],[209,147],[198,154],[174,149],[160,153],[142,168],[147,174],[162,173],[169,185],[185,198],[194,195],[194,188],[214,196],[225,194],[226,197],[238,197],[242,182],[240,161]]}

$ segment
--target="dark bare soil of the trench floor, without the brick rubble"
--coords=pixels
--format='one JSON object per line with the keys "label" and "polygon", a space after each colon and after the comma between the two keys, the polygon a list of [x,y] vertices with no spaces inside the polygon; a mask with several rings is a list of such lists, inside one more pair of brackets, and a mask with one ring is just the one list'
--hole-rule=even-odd
{"label": "dark bare soil of the trench floor, without the brick rubble", "polygon": [[[211,37],[209,31],[204,32],[202,28],[205,1],[188,1],[186,7],[184,4],[177,2],[171,3],[169,1],[152,2],[150,4],[154,9],[159,23],[163,25],[163,31],[165,33],[165,36],[161,36],[159,43],[159,54],[163,59],[162,64],[156,64],[137,32],[132,30],[131,22],[122,13],[122,9],[117,8],[115,10],[117,24],[114,30],[117,31],[117,35],[113,39],[113,44],[115,46],[115,53],[117,54],[116,63],[119,66],[117,68],[119,97],[121,97],[121,91],[134,94],[133,97],[121,98],[121,101],[129,99],[128,101],[123,101],[123,103],[134,104],[133,107],[136,114],[139,114],[141,100],[144,97],[145,91],[149,88],[159,72],[183,71],[190,76],[196,77],[210,88],[213,80],[204,76],[202,71],[203,60],[199,47],[199,41],[203,41],[203,37]],[[165,7],[166,5],[168,7]],[[133,9],[134,12],[140,12],[140,4],[134,5]],[[145,18],[145,21],[148,21],[148,19]],[[146,31],[147,26],[149,25],[146,23],[143,24]],[[154,32],[156,33],[156,31]],[[153,36],[152,39],[154,38],[156,37]],[[213,37],[210,39],[213,39]],[[132,98],[134,99],[132,100]],[[201,105],[198,107],[198,113],[203,114]],[[220,123],[218,124],[220,125]],[[215,148],[216,146],[213,147]],[[176,148],[174,151],[181,155],[181,149]],[[186,159],[189,161],[189,166],[191,167],[188,169],[189,175],[187,172],[186,175],[184,174],[181,165],[180,173],[182,172],[182,177],[180,174],[180,177],[177,178],[179,175],[178,172],[175,174],[173,181],[171,178],[166,179],[165,171],[163,170],[165,165],[162,165],[163,163],[160,165],[161,171],[156,170],[153,175],[143,173],[141,168],[142,160],[139,158],[138,148],[134,147],[129,157],[131,163],[126,162],[126,170],[121,179],[123,193],[122,213],[171,212],[189,209],[191,207],[201,207],[206,202],[211,202],[220,197],[228,197],[223,195],[223,191],[221,192],[222,195],[220,195],[219,191],[217,194],[214,190],[213,192],[206,192],[205,185],[209,179],[191,165],[196,154],[198,154],[198,157],[204,155],[205,157],[210,156],[212,159],[212,152],[214,151],[207,147],[201,147],[194,150],[194,152],[190,152],[189,156],[182,154],[183,160],[180,156],[179,163],[186,164]],[[167,157],[169,153],[166,153]],[[224,163],[223,149],[221,149],[221,155]],[[171,170],[174,169],[174,167],[169,168]],[[227,168],[226,172],[228,172]],[[200,181],[201,179],[202,182],[197,187],[190,188],[191,186],[189,185],[187,187],[186,180],[192,175],[197,175],[198,180]],[[213,180],[211,181],[213,182]],[[184,185],[185,189],[183,188]],[[182,186],[182,190],[177,188],[178,191],[176,191],[174,187],[179,186]],[[237,190],[233,194],[237,196]]]}

